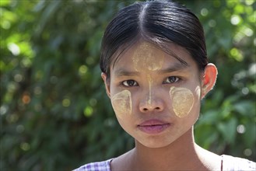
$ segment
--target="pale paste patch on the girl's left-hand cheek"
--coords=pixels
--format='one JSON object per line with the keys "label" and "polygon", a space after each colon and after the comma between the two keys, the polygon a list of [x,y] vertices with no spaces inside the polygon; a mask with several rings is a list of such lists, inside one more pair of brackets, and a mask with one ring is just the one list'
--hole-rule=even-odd
{"label": "pale paste patch on the girl's left-hand cheek", "polygon": [[111,98],[111,103],[117,117],[122,117],[125,114],[132,113],[132,98],[131,92],[124,90],[118,92]]}

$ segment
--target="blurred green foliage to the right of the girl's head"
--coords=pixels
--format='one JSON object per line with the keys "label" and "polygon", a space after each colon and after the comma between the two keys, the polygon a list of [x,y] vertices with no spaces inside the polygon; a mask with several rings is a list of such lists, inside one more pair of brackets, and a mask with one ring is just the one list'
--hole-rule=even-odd
{"label": "blurred green foliage to the right of the girl's head", "polygon": [[196,140],[212,152],[255,161],[256,3],[195,1],[188,6],[204,25],[209,59],[219,70],[215,89],[202,103]]}

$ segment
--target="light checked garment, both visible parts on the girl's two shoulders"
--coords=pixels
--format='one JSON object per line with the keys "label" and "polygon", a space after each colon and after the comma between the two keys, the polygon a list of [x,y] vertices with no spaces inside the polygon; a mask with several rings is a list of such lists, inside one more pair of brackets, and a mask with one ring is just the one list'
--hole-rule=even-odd
{"label": "light checked garment, both visible parts on the girl's two shoulders", "polygon": [[[221,171],[256,171],[256,163],[247,159],[241,159],[230,155],[221,155],[222,162],[219,170]],[[108,159],[103,162],[91,162],[75,169],[74,171],[111,171]]]}

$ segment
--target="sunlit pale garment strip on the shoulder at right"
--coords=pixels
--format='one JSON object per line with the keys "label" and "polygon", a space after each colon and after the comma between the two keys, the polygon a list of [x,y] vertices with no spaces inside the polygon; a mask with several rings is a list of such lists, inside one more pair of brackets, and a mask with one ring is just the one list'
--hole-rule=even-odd
{"label": "sunlit pale garment strip on the shoulder at right", "polygon": [[221,155],[222,157],[222,170],[256,170],[256,163],[248,159],[233,157],[231,155]]}

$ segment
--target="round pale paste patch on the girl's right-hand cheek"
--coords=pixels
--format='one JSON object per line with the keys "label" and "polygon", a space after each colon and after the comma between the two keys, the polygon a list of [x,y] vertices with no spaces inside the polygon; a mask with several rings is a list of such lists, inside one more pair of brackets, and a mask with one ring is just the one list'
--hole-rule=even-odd
{"label": "round pale paste patch on the girl's right-hand cheek", "polygon": [[186,117],[190,113],[195,98],[190,89],[170,87],[170,99],[177,117]]}

